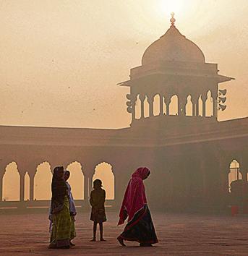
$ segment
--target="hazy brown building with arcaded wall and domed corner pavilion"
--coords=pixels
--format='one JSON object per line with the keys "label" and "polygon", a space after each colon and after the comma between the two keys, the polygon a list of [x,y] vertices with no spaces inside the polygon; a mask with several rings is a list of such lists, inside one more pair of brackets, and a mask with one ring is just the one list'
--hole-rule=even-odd
{"label": "hazy brown building with arcaded wall and domed corner pavilion", "polygon": [[130,127],[1,126],[0,192],[5,168],[15,161],[20,200],[24,200],[27,172],[28,203],[39,204],[33,202],[38,164],[48,161],[54,167],[78,161],[85,175],[87,200],[95,166],[106,162],[114,173],[116,205],[130,174],[137,166],[147,166],[152,171],[147,195],[154,208],[227,208],[228,174],[234,159],[247,182],[248,118],[218,121],[218,109],[226,108],[226,90],[219,90],[218,85],[233,78],[218,74],[217,64],[206,63],[200,48],[181,35],[174,22],[172,17],[171,27],[145,51],[142,65],[131,69],[130,79],[120,83],[130,88]]}

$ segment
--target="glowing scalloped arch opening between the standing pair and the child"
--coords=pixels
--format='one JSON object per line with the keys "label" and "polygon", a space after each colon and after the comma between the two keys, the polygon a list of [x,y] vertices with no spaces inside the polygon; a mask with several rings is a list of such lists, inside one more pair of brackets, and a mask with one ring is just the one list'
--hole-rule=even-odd
{"label": "glowing scalloped arch opening between the standing pair and the child", "polygon": [[72,195],[74,200],[84,200],[85,175],[82,171],[82,164],[74,161],[67,166],[67,170],[70,172],[68,182],[72,187]]}

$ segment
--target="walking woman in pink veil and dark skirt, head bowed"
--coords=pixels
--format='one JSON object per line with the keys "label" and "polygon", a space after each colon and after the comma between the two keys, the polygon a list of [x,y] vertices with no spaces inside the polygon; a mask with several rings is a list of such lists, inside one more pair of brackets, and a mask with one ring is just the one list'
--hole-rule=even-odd
{"label": "walking woman in pink veil and dark skirt, head bowed", "polygon": [[127,226],[117,237],[122,246],[125,246],[124,240],[139,242],[140,246],[152,246],[152,244],[158,243],[150,211],[147,207],[143,184],[143,180],[147,179],[149,175],[150,170],[148,168],[137,168],[127,185],[118,223],[121,225],[128,218]]}

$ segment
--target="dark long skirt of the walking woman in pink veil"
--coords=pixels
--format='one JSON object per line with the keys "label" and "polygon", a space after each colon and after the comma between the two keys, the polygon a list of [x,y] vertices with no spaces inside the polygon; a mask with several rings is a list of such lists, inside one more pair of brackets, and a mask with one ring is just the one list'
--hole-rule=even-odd
{"label": "dark long skirt of the walking woman in pink veil", "polygon": [[121,239],[139,242],[140,244],[158,243],[158,238],[147,205],[134,215],[132,221],[127,223],[120,237]]}

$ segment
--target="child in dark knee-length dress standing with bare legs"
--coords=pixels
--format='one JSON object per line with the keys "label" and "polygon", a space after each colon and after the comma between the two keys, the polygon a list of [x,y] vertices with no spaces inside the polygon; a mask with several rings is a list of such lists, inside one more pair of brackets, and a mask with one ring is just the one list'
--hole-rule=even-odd
{"label": "child in dark knee-length dress standing with bare legs", "polygon": [[95,179],[95,181],[93,182],[93,191],[90,193],[90,205],[92,207],[90,221],[93,221],[93,239],[91,240],[92,242],[95,242],[95,235],[98,223],[100,227],[100,241],[106,241],[103,239],[103,222],[107,220],[104,207],[106,192],[101,187],[101,180]]}

